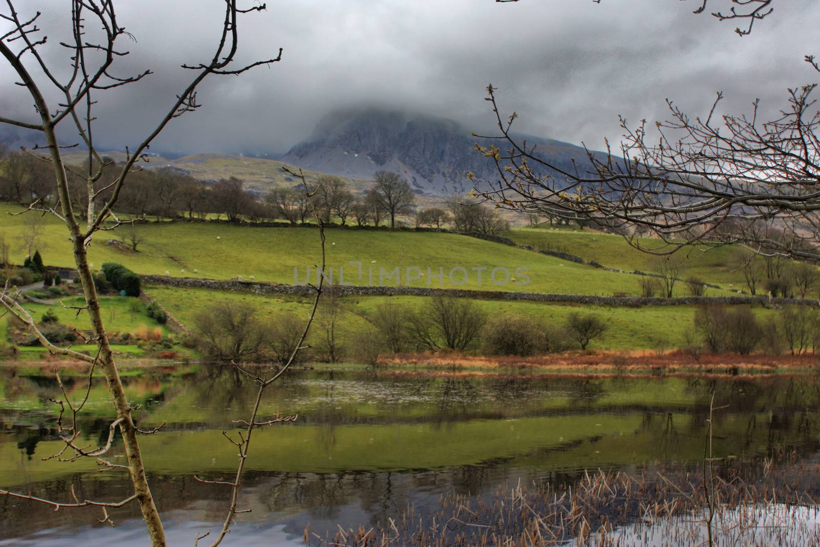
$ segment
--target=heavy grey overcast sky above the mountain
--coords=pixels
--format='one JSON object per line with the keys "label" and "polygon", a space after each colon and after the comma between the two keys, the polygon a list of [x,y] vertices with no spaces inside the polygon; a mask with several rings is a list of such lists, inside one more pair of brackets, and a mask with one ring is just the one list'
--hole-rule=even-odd
{"label": "heavy grey overcast sky above the mountain", "polygon": [[[240,0],[240,3],[243,0]],[[729,0],[710,0],[726,8]],[[182,62],[206,61],[221,25],[220,0],[119,2],[121,25],[134,34],[129,68],[147,80],[99,96],[98,139],[133,145],[183,89]],[[57,46],[66,0],[18,0],[25,15],[46,15],[49,62],[66,63]],[[248,5],[253,2],[248,1]],[[374,105],[429,113],[484,131],[491,120],[485,87],[499,87],[502,107],[519,112],[518,130],[599,148],[617,139],[617,115],[663,116],[664,98],[693,115],[717,90],[730,112],[754,98],[777,110],[786,88],[814,82],[803,62],[820,55],[820,2],[777,0],[750,36],[732,21],[691,13],[699,0],[321,0],[268,2],[243,16],[239,58],[282,61],[245,75],[212,77],[203,108],[172,122],[154,146],[173,153],[284,152],[339,107]],[[799,9],[798,9],[799,4]],[[710,6],[710,7],[712,7]],[[5,12],[5,10],[2,10]],[[30,57],[29,57],[30,60]],[[7,85],[0,63],[0,116],[34,121],[25,89]]]}

